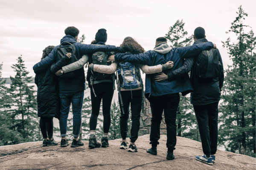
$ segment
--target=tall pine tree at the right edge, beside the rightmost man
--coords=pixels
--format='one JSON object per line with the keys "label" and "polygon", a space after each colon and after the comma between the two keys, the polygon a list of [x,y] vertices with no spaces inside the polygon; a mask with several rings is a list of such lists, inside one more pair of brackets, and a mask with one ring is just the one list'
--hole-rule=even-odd
{"label": "tall pine tree at the right edge, beside the rightmost man", "polygon": [[[219,144],[227,145],[226,150],[255,153],[255,40],[253,31],[245,33],[243,20],[247,14],[239,6],[238,17],[231,23],[226,33],[235,33],[237,43],[230,37],[223,43],[228,49],[233,65],[225,71],[223,88],[224,101],[221,103]],[[254,147],[254,148],[253,148]],[[255,155],[255,154],[254,154]]]}

